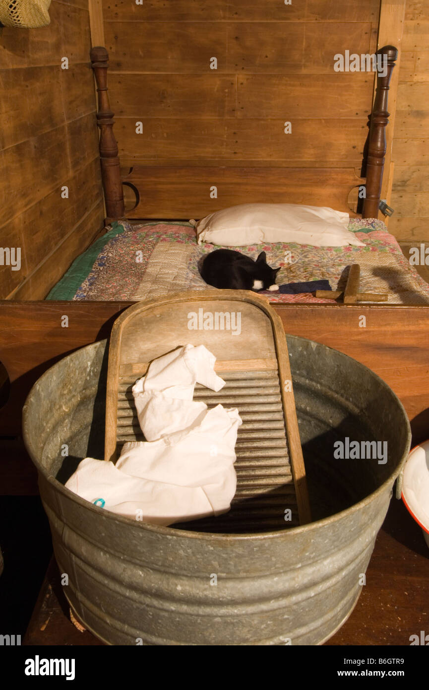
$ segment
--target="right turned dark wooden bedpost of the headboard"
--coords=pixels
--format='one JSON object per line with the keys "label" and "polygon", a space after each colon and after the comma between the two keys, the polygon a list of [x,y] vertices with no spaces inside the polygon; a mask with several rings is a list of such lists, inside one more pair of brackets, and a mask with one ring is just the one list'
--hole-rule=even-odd
{"label": "right turned dark wooden bedpost of the headboard", "polygon": [[[377,90],[374,106],[369,116],[368,157],[366,159],[366,197],[363,202],[363,218],[377,218],[383,179],[384,156],[386,155],[386,125],[389,121],[388,91],[392,70],[398,51],[394,46],[384,46],[376,55],[387,55],[387,74],[377,71]],[[382,58],[384,60],[384,57]]]}

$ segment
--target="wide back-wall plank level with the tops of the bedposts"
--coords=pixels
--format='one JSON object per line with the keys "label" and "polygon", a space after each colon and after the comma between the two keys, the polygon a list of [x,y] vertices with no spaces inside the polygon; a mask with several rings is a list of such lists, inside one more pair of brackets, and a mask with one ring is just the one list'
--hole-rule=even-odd
{"label": "wide back-wall plank level with the tops of the bedposts", "polygon": [[[135,40],[138,32],[139,41]],[[111,72],[323,73],[332,75],[335,52],[374,52],[377,30],[370,21],[312,22],[106,22]],[[168,45],[168,50],[166,50]],[[335,50],[332,49],[335,46]],[[304,55],[317,60],[303,59]]]}

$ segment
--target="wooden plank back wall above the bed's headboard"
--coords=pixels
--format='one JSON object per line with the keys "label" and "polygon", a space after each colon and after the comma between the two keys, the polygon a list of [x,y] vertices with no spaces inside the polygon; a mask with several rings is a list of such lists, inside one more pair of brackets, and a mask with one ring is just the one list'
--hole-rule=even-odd
{"label": "wooden plank back wall above the bed's headboard", "polygon": [[148,179],[165,166],[235,167],[241,179],[264,168],[265,181],[273,167],[348,168],[358,185],[374,73],[335,72],[334,55],[377,50],[379,8],[379,0],[103,0],[123,168],[148,166]]}

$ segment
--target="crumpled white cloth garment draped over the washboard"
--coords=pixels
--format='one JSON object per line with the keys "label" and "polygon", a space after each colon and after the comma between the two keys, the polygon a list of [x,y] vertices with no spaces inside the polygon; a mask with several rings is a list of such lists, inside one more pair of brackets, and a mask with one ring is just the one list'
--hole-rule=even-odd
{"label": "crumpled white cloth garment draped over the washboard", "polygon": [[187,345],[154,359],[132,389],[146,442],[130,442],[116,465],[86,458],[66,487],[106,509],[168,525],[230,508],[237,478],[237,408],[193,402],[196,382],[219,391],[215,357]]}

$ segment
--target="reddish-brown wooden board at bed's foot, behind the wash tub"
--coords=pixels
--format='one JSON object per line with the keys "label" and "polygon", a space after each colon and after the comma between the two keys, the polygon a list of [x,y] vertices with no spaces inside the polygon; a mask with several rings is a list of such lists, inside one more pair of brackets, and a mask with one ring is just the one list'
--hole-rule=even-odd
{"label": "reddish-brown wooden board at bed's foot, behind the wash tub", "polygon": [[[64,355],[108,337],[130,302],[0,302],[0,362],[11,381],[0,435],[20,433],[21,408],[32,384]],[[414,442],[429,429],[429,308],[425,306],[273,305],[286,333],[307,337],[354,357],[398,395]],[[68,315],[68,328],[61,317]],[[359,319],[366,317],[366,327]]]}

